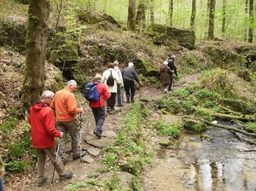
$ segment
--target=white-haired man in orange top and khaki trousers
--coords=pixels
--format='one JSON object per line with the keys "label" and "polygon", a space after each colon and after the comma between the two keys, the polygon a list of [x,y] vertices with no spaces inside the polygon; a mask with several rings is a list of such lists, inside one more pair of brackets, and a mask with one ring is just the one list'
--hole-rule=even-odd
{"label": "white-haired man in orange top and khaki trousers", "polygon": [[76,122],[75,115],[83,113],[83,107],[78,108],[76,98],[73,92],[77,89],[75,80],[69,80],[63,90],[56,92],[50,107],[56,111],[56,121],[58,130],[63,132],[63,137],[60,140],[59,156],[64,164],[68,159],[65,156],[66,136],[67,131],[72,138],[71,147],[73,159],[80,159],[85,155],[85,151],[79,152],[79,126]]}

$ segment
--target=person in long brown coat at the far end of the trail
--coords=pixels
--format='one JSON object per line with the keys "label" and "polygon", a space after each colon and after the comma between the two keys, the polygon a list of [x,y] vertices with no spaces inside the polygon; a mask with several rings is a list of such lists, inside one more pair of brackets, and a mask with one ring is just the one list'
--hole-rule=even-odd
{"label": "person in long brown coat at the far end of the trail", "polygon": [[171,74],[174,71],[171,70],[170,67],[168,67],[168,61],[164,61],[163,65],[160,67],[160,78],[161,82],[164,84],[165,90],[164,93],[168,92],[169,86],[171,84]]}

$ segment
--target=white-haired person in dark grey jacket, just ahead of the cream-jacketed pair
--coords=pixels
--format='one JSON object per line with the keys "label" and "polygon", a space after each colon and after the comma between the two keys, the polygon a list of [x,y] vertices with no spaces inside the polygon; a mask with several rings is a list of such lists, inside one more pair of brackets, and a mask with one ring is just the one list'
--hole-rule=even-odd
{"label": "white-haired person in dark grey jacket, just ahead of the cream-jacketed pair", "polygon": [[138,84],[141,84],[137,72],[133,68],[133,63],[129,62],[128,67],[125,67],[122,73],[126,93],[126,103],[130,103],[130,96],[131,103],[133,103],[135,95],[134,80],[137,81]]}

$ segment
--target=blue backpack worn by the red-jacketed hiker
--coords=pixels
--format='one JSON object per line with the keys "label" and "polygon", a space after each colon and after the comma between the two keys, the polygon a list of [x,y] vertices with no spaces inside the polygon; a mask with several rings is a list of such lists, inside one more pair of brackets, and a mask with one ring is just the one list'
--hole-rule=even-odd
{"label": "blue backpack worn by the red-jacketed hiker", "polygon": [[95,102],[100,99],[100,93],[97,85],[93,82],[84,85],[84,98],[88,101]]}

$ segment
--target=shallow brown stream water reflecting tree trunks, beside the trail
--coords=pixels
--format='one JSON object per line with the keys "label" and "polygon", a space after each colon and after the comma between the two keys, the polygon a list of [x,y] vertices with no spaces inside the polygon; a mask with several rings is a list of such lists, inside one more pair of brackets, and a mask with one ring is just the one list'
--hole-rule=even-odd
{"label": "shallow brown stream water reflecting tree trunks, beside the trail", "polygon": [[211,140],[186,130],[170,148],[160,148],[143,190],[256,190],[256,148],[228,130],[210,126]]}

